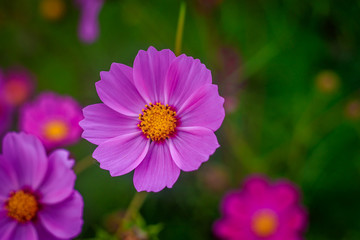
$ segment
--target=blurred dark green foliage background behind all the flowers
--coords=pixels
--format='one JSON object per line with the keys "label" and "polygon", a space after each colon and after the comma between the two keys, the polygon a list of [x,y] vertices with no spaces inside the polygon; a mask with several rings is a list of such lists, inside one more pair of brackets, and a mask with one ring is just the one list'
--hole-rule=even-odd
{"label": "blurred dark green foliage background behind all the flowers", "polygon": [[[149,46],[174,49],[180,1],[105,1],[91,45],[77,38],[72,1],[60,0],[64,12],[53,20],[43,1],[0,1],[0,66],[30,69],[37,93],[97,103],[94,83],[112,62],[132,66]],[[306,239],[360,239],[359,13],[360,1],[351,0],[187,1],[182,52],[212,70],[227,115],[210,160],[183,172],[172,189],[149,194],[140,212],[155,226],[145,232],[213,239],[224,193],[263,173],[302,189]],[[82,140],[69,150],[80,162],[94,148]],[[103,231],[135,193],[132,173],[112,178],[93,164],[76,188],[85,201],[79,239],[108,239]]]}

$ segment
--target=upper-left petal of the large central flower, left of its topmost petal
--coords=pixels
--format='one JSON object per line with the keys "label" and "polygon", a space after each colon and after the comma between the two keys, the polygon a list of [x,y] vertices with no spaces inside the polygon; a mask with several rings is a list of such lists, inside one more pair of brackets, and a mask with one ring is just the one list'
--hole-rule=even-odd
{"label": "upper-left petal of the large central flower, left of its topmost petal", "polygon": [[133,83],[133,69],[120,63],[111,64],[110,71],[100,73],[96,82],[98,95],[113,110],[127,116],[139,116],[147,102]]}

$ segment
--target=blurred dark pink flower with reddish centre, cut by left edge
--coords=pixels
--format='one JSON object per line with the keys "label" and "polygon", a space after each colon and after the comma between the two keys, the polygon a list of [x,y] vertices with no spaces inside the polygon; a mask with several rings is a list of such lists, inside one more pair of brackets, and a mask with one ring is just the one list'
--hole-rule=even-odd
{"label": "blurred dark pink flower with reddish centre, cut by left edge", "polygon": [[24,68],[13,68],[3,74],[0,92],[11,106],[24,103],[34,91],[34,77]]}

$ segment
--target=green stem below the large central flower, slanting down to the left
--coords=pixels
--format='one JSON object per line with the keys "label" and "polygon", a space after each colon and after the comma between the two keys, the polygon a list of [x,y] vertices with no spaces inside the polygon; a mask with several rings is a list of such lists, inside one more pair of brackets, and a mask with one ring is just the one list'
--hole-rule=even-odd
{"label": "green stem below the large central flower, slanting down to the left", "polygon": [[130,220],[134,219],[138,214],[141,206],[143,205],[147,192],[136,192],[133,199],[131,200],[128,209],[125,212],[124,218],[119,224],[118,229],[116,230],[115,236],[121,239],[121,234],[125,230],[125,224]]}

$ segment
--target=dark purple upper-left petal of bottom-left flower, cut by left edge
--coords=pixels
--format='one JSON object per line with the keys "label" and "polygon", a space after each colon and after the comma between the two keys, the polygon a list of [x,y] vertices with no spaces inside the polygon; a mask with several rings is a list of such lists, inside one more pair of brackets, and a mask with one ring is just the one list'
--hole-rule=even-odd
{"label": "dark purple upper-left petal of bottom-left flower, cut by left edge", "polygon": [[19,183],[14,169],[0,155],[0,205],[6,201],[9,194],[19,188]]}

